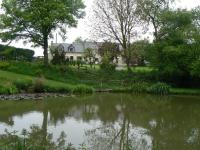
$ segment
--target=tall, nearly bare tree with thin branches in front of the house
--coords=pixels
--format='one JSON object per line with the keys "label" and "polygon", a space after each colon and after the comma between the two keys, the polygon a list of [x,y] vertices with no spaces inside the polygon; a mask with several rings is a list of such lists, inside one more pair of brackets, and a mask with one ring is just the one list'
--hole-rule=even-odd
{"label": "tall, nearly bare tree with thin branches in front of the house", "polygon": [[136,0],[96,0],[94,32],[98,37],[118,42],[130,67],[130,43],[135,37],[138,23]]}

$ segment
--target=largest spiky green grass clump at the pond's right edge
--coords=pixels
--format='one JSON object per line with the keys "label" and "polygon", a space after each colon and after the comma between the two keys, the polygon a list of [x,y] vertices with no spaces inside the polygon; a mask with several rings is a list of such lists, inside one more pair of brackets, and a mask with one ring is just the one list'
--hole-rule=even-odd
{"label": "largest spiky green grass clump at the pond's right edge", "polygon": [[156,83],[147,89],[148,93],[157,95],[167,95],[170,93],[170,86],[166,83]]}

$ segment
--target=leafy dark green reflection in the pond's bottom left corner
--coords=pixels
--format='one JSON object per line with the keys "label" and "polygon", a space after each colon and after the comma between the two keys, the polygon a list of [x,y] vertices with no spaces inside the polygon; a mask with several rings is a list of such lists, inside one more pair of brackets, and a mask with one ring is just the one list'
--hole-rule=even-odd
{"label": "leafy dark green reflection in the pond's bottom left corner", "polygon": [[52,137],[51,133],[36,125],[31,126],[30,131],[23,130],[20,135],[17,131],[5,130],[0,137],[0,150],[76,150],[72,144],[66,143],[65,132],[57,141],[53,141]]}

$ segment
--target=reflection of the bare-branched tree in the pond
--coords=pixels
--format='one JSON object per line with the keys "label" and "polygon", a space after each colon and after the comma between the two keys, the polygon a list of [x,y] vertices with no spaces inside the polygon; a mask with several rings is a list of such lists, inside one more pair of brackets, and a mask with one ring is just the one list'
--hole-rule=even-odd
{"label": "reflection of the bare-branched tree in the pond", "polygon": [[148,130],[136,127],[126,116],[85,132],[90,150],[151,150]]}

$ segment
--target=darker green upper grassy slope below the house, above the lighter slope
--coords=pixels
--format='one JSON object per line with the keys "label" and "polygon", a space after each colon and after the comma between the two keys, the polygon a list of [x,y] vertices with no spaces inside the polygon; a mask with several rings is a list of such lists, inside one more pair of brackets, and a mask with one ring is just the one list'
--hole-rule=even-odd
{"label": "darker green upper grassy slope below the house, above the lighter slope", "polygon": [[90,67],[82,67],[79,70],[74,66],[43,66],[37,63],[23,62],[4,62],[0,64],[0,69],[29,75],[43,76],[49,80],[68,83],[71,85],[84,84],[94,87],[95,89],[113,89],[115,87],[124,88],[131,86],[133,83],[146,81],[151,79],[151,74],[146,69],[138,69],[131,73],[126,70],[122,71],[103,71],[98,67],[91,69]]}

